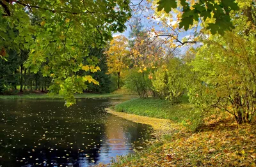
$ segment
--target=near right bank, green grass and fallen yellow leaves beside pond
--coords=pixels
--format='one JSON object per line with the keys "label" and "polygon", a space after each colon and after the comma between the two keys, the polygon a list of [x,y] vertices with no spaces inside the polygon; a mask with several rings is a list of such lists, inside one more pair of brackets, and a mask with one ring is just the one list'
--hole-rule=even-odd
{"label": "near right bank, green grass and fallen yellow leaves beside pond", "polygon": [[195,116],[186,101],[170,105],[159,99],[132,99],[116,105],[115,110],[120,114],[113,114],[136,122],[152,123],[127,113],[173,121],[170,131],[160,131],[157,142],[148,149],[120,156],[111,166],[256,166],[256,124],[222,120],[209,122],[197,132],[187,131],[177,124]]}

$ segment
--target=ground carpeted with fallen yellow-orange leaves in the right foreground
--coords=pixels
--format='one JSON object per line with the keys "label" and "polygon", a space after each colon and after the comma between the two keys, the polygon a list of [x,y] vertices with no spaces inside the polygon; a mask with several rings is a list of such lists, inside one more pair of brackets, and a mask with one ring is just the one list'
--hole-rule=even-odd
{"label": "ground carpeted with fallen yellow-orange leaves in the right foreground", "polygon": [[200,133],[164,134],[164,141],[119,157],[112,166],[255,166],[255,135],[255,124],[219,124]]}

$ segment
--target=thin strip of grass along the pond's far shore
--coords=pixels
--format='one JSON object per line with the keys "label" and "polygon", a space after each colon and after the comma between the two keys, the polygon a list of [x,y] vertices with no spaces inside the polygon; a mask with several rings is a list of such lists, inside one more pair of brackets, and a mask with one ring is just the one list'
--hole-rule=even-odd
{"label": "thin strip of grass along the pond's far shore", "polygon": [[[75,98],[116,98],[120,97],[120,94],[76,94]],[[61,96],[49,96],[48,94],[22,94],[22,95],[1,95],[0,99],[63,99]]]}

